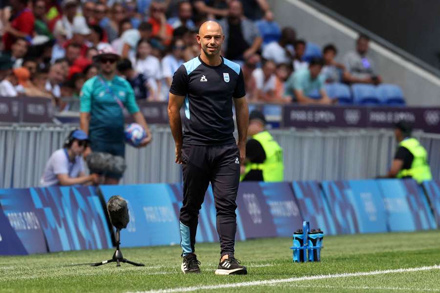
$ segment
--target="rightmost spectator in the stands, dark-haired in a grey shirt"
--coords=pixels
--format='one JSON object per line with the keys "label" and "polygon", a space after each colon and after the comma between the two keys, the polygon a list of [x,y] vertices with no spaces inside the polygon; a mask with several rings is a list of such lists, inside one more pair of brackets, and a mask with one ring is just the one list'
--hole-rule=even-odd
{"label": "rightmost spectator in the stands, dark-haired in a grey shirt", "polygon": [[377,74],[373,60],[367,56],[370,38],[359,35],[356,41],[356,51],[348,52],[344,56],[347,73],[344,81],[347,83],[380,84],[382,78]]}

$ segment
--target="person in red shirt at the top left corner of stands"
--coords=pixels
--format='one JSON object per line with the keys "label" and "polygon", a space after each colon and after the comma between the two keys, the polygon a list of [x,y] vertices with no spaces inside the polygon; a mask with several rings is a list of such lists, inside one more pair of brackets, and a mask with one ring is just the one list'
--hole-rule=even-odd
{"label": "person in red shirt at the top left corner of stands", "polygon": [[10,0],[12,17],[5,23],[3,45],[5,51],[10,51],[16,38],[24,38],[28,42],[34,34],[35,17],[27,8],[27,0]]}

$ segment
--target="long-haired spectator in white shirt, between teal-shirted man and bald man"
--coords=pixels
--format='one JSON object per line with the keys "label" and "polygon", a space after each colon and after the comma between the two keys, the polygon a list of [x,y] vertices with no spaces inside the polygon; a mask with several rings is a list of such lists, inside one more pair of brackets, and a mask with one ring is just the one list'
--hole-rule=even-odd
{"label": "long-haired spectator in white shirt, between teal-shirted man and bald man", "polygon": [[134,69],[142,73],[148,80],[151,87],[150,97],[152,101],[161,100],[161,79],[160,61],[151,55],[151,43],[142,39],[137,44],[136,58],[132,60]]}

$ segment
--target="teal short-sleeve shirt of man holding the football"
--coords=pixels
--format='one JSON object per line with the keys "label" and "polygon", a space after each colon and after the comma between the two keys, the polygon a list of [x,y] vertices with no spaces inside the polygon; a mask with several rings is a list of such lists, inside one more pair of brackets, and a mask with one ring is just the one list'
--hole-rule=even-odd
{"label": "teal short-sleeve shirt of man holding the football", "polygon": [[139,111],[133,88],[122,77],[115,76],[108,81],[98,75],[83,85],[80,93],[80,112],[90,113],[90,140],[124,140],[124,114],[118,100],[130,114]]}

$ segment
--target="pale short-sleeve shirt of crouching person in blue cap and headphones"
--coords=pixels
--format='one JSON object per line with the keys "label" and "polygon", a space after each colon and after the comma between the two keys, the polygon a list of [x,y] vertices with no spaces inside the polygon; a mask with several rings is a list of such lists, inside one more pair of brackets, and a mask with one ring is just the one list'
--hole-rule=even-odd
{"label": "pale short-sleeve shirt of crouching person in blue cap and headphones", "polygon": [[70,162],[64,148],[56,150],[49,158],[44,168],[40,185],[42,187],[59,185],[58,174],[66,174],[70,178],[77,178],[84,172],[84,161],[80,156]]}

